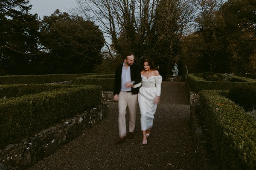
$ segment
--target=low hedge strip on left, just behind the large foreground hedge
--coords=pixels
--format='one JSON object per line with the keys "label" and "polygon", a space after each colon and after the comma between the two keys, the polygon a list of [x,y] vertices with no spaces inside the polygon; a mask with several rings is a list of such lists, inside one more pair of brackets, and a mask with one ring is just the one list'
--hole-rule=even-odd
{"label": "low hedge strip on left, just behind the large foreground hedge", "polygon": [[27,94],[35,94],[57,90],[61,88],[81,87],[82,85],[60,85],[60,84],[14,84],[0,85],[0,101],[1,99],[20,97]]}

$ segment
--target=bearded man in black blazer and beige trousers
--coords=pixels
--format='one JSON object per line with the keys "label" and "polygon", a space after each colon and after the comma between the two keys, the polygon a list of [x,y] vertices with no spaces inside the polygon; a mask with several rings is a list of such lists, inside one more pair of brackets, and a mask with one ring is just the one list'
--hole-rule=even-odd
{"label": "bearded man in black blazer and beige trousers", "polygon": [[140,68],[134,64],[134,54],[125,52],[123,55],[124,62],[116,67],[116,75],[114,80],[114,101],[118,101],[118,126],[119,138],[116,144],[122,143],[126,136],[125,114],[128,105],[130,113],[129,133],[127,138],[134,137],[134,127],[136,122],[137,99],[139,88],[131,88],[135,83],[141,82]]}

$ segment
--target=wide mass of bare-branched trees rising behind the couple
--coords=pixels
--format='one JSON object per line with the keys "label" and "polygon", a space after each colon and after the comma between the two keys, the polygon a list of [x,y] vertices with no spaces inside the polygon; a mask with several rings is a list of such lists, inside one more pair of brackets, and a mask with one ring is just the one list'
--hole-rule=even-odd
{"label": "wide mass of bare-branched trees rising behind the couple", "polygon": [[[167,63],[180,55],[182,37],[194,17],[192,0],[77,0],[76,14],[99,24],[108,50],[132,49],[136,58],[148,55]],[[111,53],[110,53],[111,55]]]}

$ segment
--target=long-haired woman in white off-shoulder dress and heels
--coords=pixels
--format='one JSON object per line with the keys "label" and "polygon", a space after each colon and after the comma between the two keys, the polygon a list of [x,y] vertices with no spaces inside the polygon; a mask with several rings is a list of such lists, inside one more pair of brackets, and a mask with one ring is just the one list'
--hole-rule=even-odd
{"label": "long-haired woman in white off-shoulder dress and heels", "polygon": [[147,137],[150,135],[153,126],[154,113],[157,110],[157,103],[160,101],[162,76],[150,57],[143,58],[143,70],[141,82],[133,88],[140,87],[138,101],[140,106],[140,123],[143,132],[142,144],[147,144]]}

